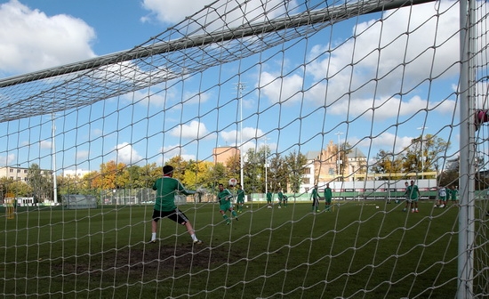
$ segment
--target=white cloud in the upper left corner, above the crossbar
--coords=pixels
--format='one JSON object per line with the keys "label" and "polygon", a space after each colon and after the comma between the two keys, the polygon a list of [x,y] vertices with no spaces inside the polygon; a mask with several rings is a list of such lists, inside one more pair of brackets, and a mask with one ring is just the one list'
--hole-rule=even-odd
{"label": "white cloud in the upper left corner, above the crossbar", "polygon": [[95,56],[93,28],[65,14],[47,16],[17,0],[0,4],[0,71],[15,74]]}

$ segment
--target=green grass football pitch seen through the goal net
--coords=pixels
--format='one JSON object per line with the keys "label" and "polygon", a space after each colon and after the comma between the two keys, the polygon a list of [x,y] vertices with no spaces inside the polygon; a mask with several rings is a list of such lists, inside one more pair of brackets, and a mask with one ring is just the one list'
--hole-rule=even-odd
{"label": "green grass football pitch seen through the goal net", "polygon": [[[376,208],[379,206],[379,208]],[[421,202],[339,202],[281,209],[248,204],[226,225],[215,204],[180,206],[184,226],[152,206],[40,208],[5,217],[0,231],[4,298],[400,298],[453,297],[458,208]]]}

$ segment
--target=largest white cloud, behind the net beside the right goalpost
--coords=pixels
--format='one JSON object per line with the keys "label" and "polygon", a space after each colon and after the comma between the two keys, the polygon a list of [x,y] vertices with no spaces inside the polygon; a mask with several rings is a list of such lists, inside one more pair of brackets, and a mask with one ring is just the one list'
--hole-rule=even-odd
{"label": "largest white cloud, behind the net beside the right goalpost", "polygon": [[[419,109],[453,113],[453,91],[428,86],[430,77],[455,78],[459,72],[459,10],[451,5],[414,5],[385,12],[381,22],[359,23],[352,29],[355,38],[311,48],[306,77],[263,71],[263,94],[271,102],[292,104],[301,101],[303,91],[312,107],[327,106],[328,114],[369,121],[412,116]],[[438,7],[443,13],[433,18]],[[429,99],[422,99],[427,89]],[[405,93],[402,101],[393,96],[400,92]]]}

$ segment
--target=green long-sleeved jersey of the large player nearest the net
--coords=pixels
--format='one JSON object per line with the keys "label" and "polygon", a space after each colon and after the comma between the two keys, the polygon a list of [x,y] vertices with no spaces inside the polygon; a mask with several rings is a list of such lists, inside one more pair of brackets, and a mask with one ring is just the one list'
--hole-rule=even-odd
{"label": "green long-sleeved jersey of the large player nearest the net", "polygon": [[192,195],[196,191],[186,190],[181,182],[169,176],[164,176],[156,180],[153,184],[153,190],[156,190],[155,210],[163,212],[172,212],[175,206],[176,192],[181,192],[185,195]]}

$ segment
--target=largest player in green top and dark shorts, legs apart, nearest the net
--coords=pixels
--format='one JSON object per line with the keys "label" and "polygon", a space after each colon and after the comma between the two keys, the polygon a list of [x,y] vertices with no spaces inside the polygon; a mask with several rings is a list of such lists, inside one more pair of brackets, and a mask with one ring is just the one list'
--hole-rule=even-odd
{"label": "largest player in green top and dark shorts, legs apart, nearest the net", "polygon": [[168,218],[181,225],[185,225],[194,244],[202,244],[202,241],[196,238],[195,230],[187,216],[175,206],[175,195],[177,192],[185,195],[192,195],[195,194],[196,191],[186,190],[179,180],[173,179],[172,166],[163,167],[163,177],[156,180],[153,184],[153,190],[156,190],[156,201],[153,209],[153,221],[151,222],[152,233],[149,242],[156,243],[157,222],[161,218]]}

